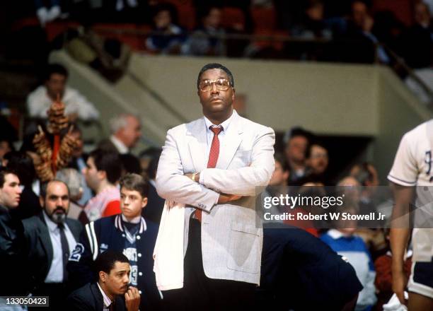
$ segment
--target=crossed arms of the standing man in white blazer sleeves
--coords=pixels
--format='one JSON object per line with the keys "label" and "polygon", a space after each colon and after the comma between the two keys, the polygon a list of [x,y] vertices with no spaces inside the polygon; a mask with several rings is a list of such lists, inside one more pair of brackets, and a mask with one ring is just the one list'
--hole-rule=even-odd
{"label": "crossed arms of the standing man in white blazer sleeves", "polygon": [[183,170],[175,133],[169,130],[156,174],[158,194],[164,199],[205,211],[210,211],[214,204],[223,204],[240,196],[255,196],[256,187],[266,186],[274,171],[274,142],[274,131],[264,128],[255,138],[248,167],[206,168],[192,181],[192,174],[185,174]]}

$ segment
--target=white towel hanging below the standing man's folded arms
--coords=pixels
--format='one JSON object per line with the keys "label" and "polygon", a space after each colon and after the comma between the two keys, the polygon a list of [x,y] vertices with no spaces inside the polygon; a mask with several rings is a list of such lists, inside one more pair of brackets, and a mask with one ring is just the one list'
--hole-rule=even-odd
{"label": "white towel hanging below the standing man's folded arms", "polygon": [[183,288],[185,205],[166,201],[154,249],[156,286],[160,291]]}

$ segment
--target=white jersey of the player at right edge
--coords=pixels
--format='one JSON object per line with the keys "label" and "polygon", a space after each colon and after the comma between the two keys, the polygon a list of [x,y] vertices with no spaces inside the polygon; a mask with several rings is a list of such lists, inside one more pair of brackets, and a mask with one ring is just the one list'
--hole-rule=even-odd
{"label": "white jersey of the player at right edge", "polygon": [[400,141],[388,180],[416,187],[412,244],[414,261],[433,257],[433,120],[408,131]]}

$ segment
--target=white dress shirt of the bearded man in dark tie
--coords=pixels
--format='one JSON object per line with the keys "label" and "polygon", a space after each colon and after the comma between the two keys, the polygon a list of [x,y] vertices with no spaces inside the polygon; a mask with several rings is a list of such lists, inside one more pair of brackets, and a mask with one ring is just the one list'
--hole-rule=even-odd
{"label": "white dress shirt of the bearded man in dark tie", "polygon": [[[50,233],[50,239],[52,244],[52,262],[50,270],[48,271],[45,283],[62,283],[63,282],[63,254],[62,254],[62,242],[60,242],[60,229],[57,223],[54,223],[47,216],[45,211],[43,212],[45,223],[47,223],[48,233]],[[76,240],[72,235],[67,223],[64,223],[64,234],[67,237],[69,254],[74,251]]]}

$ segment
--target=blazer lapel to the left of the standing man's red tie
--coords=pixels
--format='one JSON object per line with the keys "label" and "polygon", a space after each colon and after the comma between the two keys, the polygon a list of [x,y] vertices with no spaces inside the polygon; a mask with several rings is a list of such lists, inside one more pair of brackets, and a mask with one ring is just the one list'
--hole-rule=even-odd
{"label": "blazer lapel to the left of the standing man's red tie", "polygon": [[187,126],[187,143],[195,172],[201,172],[207,166],[206,148],[206,125],[204,119],[200,118]]}

